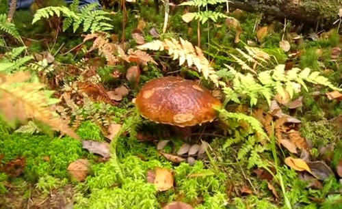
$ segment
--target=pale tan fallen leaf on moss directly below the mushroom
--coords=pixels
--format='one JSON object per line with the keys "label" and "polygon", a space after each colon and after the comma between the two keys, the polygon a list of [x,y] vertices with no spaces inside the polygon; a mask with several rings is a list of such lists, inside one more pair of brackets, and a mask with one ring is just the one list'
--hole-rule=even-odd
{"label": "pale tan fallen leaf on moss directly below the mushroom", "polygon": [[173,187],[172,171],[164,169],[162,167],[155,168],[155,180],[154,184],[158,191],[167,191]]}

